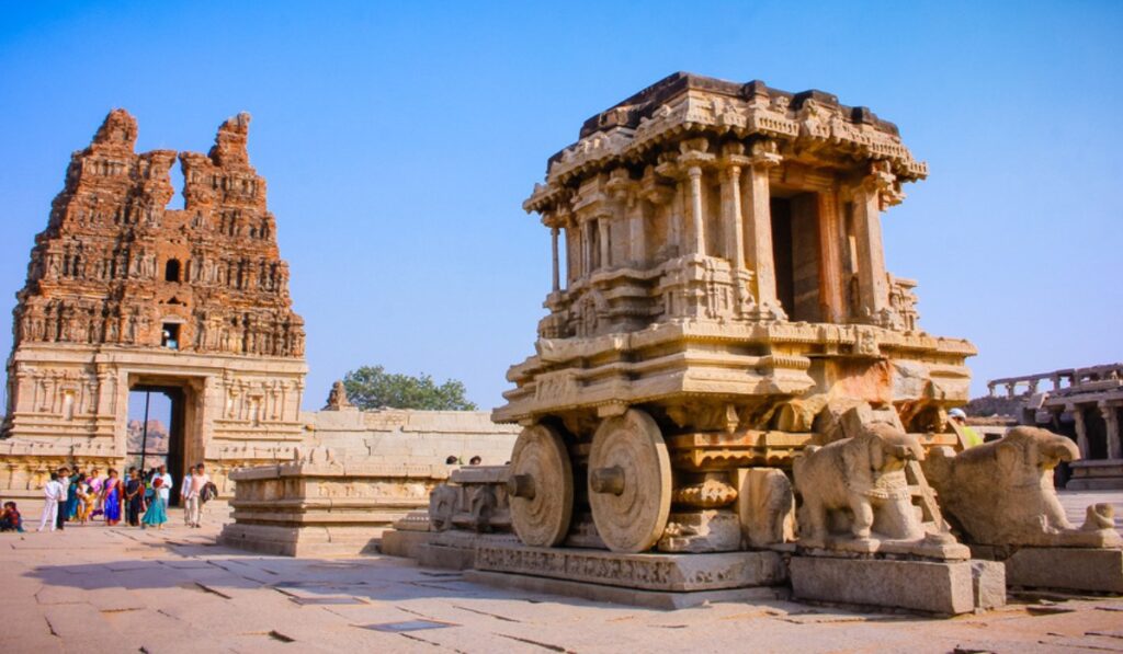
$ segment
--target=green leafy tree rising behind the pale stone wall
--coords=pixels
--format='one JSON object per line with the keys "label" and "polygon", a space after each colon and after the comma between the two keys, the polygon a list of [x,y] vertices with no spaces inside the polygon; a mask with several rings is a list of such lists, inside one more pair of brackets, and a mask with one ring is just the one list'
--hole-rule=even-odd
{"label": "green leafy tree rising behind the pale stone wall", "polygon": [[475,411],[476,405],[464,397],[464,383],[449,379],[437,385],[421,374],[386,372],[382,366],[363,366],[344,376],[347,399],[362,409],[420,408],[426,411]]}

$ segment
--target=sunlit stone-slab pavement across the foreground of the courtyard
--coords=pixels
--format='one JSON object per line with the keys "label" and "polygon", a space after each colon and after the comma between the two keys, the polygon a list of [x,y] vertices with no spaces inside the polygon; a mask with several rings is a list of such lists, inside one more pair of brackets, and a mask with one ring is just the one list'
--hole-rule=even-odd
{"label": "sunlit stone-slab pavement across the foreground of the courtyard", "polygon": [[[1123,492],[1062,498],[1078,515],[1123,505]],[[259,556],[214,545],[220,513],[201,529],[181,516],[159,532],[0,534],[0,652],[1123,651],[1121,598],[955,619],[786,601],[663,612],[499,590],[393,558]]]}

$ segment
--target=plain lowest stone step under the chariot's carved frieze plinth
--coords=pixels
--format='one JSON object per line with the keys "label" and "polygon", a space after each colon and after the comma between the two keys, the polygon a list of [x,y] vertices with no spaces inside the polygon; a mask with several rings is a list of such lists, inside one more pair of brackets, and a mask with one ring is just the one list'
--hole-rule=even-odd
{"label": "plain lowest stone step under the chariot's carved frieze plinth", "polygon": [[787,598],[787,589],[783,587],[757,586],[724,590],[673,592],[618,588],[601,586],[600,583],[483,570],[468,570],[464,573],[464,579],[465,581],[485,583],[503,589],[559,595],[590,601],[605,601],[657,610],[684,609],[722,601],[767,601]]}

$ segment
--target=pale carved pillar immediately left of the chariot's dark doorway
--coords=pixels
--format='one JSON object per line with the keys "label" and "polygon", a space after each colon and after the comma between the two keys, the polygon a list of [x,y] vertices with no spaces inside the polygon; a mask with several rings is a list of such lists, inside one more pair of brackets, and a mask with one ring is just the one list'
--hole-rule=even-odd
{"label": "pale carved pillar immediately left of the chariot's dark doorway", "polygon": [[752,144],[752,157],[748,168],[749,179],[746,184],[745,206],[749,210],[746,224],[748,227],[749,266],[756,278],[757,305],[761,311],[772,311],[777,317],[784,317],[784,312],[776,297],[776,262],[773,259],[772,241],[772,197],[769,193],[768,168],[780,163],[776,144],[757,141]]}

